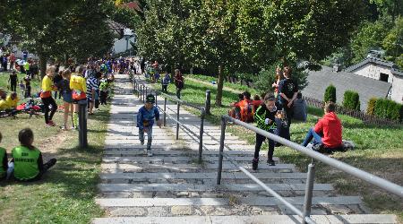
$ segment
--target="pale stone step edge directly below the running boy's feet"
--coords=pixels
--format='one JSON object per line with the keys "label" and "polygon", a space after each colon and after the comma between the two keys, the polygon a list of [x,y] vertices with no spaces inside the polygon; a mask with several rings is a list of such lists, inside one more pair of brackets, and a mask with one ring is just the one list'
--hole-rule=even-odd
{"label": "pale stone step edge directly below the running boy's feet", "polygon": [[[248,162],[250,163],[253,159],[252,155],[248,156],[231,156],[231,159],[236,160],[236,162]],[[138,157],[113,157],[113,156],[107,156],[102,158],[102,162],[104,163],[113,163],[117,162],[120,164],[124,163],[172,163],[175,162],[176,164],[178,163],[192,163],[195,161],[195,159],[198,159],[196,155],[192,158],[189,156],[153,156],[153,157],[147,157],[145,152],[143,151],[143,156],[138,156]],[[203,162],[217,162],[219,161],[218,156],[204,156]],[[226,160],[226,159],[224,159]],[[279,158],[273,157],[273,160],[279,161]],[[265,159],[260,159],[260,163],[266,163]]]}

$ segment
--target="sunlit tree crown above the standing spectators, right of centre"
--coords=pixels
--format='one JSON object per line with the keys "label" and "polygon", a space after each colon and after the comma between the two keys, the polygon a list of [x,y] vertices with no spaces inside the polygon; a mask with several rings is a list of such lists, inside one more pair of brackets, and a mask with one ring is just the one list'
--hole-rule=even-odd
{"label": "sunlit tree crown above the standing spectators, right of centre", "polygon": [[345,46],[364,17],[354,0],[241,0],[238,29],[241,49],[257,65],[279,58],[306,60],[307,67]]}

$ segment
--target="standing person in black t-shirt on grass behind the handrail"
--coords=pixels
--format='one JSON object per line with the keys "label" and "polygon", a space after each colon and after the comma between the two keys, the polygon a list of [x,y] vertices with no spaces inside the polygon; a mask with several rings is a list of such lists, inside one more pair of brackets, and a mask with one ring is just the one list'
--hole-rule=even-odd
{"label": "standing person in black t-shirt on grass behind the handrail", "polygon": [[293,104],[298,94],[298,83],[291,78],[291,68],[284,67],[284,77],[279,82],[279,103],[287,114],[287,124],[291,125],[291,119],[293,117]]}

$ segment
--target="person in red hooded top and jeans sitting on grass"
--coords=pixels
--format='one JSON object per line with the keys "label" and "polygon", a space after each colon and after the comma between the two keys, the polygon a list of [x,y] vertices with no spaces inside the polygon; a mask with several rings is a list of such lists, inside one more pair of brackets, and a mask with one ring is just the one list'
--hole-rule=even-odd
{"label": "person in red hooded top and jeans sitting on grass", "polygon": [[313,144],[322,143],[323,147],[330,151],[336,151],[341,147],[342,127],[335,111],[335,103],[330,101],[325,104],[324,116],[314,127],[309,129],[302,143],[303,146],[306,147],[313,140]]}

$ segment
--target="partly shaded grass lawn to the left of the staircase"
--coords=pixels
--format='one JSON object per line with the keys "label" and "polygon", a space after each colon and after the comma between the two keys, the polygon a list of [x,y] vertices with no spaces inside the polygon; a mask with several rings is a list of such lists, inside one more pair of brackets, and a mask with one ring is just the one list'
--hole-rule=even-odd
{"label": "partly shaded grass lawn to the left of the staircase", "polygon": [[[0,83],[4,83],[0,74]],[[7,76],[8,79],[8,76]],[[101,106],[100,106],[101,107]],[[44,159],[56,158],[57,163],[37,182],[0,182],[0,223],[89,223],[103,216],[104,211],[94,202],[99,183],[99,170],[109,106],[101,107],[89,116],[88,149],[78,148],[77,131],[61,131],[45,127],[43,116],[18,115],[0,118],[3,142],[0,146],[10,153],[19,144],[18,132],[30,127],[35,135],[34,145]],[[54,120],[62,123],[63,113],[56,112]]]}

